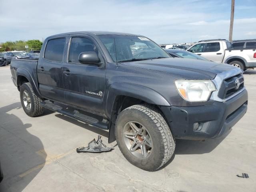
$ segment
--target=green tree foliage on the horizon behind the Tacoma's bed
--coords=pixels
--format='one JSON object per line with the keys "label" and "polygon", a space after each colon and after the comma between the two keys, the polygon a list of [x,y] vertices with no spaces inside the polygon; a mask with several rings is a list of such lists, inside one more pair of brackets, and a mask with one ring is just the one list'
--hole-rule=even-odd
{"label": "green tree foliage on the horizon behind the Tacoma's bed", "polygon": [[28,40],[28,41],[7,41],[0,43],[1,47],[0,52],[3,51],[26,51],[25,45],[28,45],[28,50],[41,50],[42,42],[40,40]]}

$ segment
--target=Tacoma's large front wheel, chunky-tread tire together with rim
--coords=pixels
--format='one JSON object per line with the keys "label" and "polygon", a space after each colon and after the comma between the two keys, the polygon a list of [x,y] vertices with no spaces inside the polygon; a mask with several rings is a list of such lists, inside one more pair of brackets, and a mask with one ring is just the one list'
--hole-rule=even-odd
{"label": "Tacoma's large front wheel, chunky-tread tire together with rim", "polygon": [[[140,128],[139,130],[144,129],[142,131],[144,134],[140,135],[140,131],[134,133],[134,125]],[[174,154],[175,140],[170,128],[161,112],[153,106],[134,105],[124,109],[117,117],[115,134],[118,147],[124,157],[143,170],[159,169]]]}

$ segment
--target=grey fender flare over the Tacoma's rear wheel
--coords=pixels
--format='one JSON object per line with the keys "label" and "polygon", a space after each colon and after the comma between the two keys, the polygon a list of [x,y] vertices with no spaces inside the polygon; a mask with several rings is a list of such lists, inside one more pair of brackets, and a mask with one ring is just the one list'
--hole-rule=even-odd
{"label": "grey fender flare over the Tacoma's rear wheel", "polygon": [[30,82],[30,84],[32,85],[32,88],[35,92],[35,94],[42,98],[39,88],[38,88],[38,84],[34,81],[34,79],[37,80],[37,76],[35,74],[31,75],[30,72],[24,68],[18,68],[16,71],[16,85],[18,86],[18,76],[24,76],[27,78],[28,82]]}

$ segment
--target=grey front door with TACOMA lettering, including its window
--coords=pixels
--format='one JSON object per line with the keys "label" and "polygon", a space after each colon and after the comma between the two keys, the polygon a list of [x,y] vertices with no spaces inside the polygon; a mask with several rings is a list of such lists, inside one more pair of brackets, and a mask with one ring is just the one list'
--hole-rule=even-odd
{"label": "grey front door with TACOMA lettering, including its window", "polygon": [[[81,64],[78,56],[82,52],[96,52],[102,66]],[[106,63],[95,40],[86,35],[70,36],[68,54],[63,66],[66,103],[104,115],[105,73]]]}

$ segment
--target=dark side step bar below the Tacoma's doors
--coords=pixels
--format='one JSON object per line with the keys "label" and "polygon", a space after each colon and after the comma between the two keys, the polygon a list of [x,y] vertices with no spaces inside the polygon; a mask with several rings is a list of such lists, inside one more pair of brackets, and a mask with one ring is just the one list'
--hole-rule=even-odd
{"label": "dark side step bar below the Tacoma's doors", "polygon": [[76,111],[71,112],[71,111],[66,110],[66,109],[62,108],[61,106],[58,106],[58,105],[56,105],[52,102],[44,102],[43,101],[40,104],[44,108],[56,111],[60,114],[66,115],[70,118],[82,121],[86,124],[89,124],[91,126],[94,126],[94,127],[100,128],[100,129],[108,130],[108,124],[107,123],[101,122],[101,121],[99,121],[98,119],[96,119],[94,117],[90,117],[88,115],[81,114],[81,113],[76,112]]}

